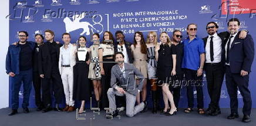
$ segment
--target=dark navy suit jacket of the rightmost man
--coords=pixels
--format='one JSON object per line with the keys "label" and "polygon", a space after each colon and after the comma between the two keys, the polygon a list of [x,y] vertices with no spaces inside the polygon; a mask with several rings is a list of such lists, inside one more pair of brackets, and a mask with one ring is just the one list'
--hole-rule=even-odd
{"label": "dark navy suit jacket of the rightmost man", "polygon": [[[239,35],[240,32],[237,33],[230,47],[229,59],[231,73],[241,73],[241,70],[250,72],[254,60],[254,41],[251,35],[247,34],[245,39],[239,39]],[[228,34],[229,36],[230,34]],[[225,43],[227,42],[228,38],[225,40]]]}

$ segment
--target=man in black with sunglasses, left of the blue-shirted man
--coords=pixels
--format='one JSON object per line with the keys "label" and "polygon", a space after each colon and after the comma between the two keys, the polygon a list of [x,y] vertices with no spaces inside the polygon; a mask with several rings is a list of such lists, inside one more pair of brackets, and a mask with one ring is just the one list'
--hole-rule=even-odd
{"label": "man in black with sunglasses, left of the blue-shirted man", "polygon": [[[181,38],[183,36],[181,35],[180,30],[174,30],[173,31],[173,45],[174,46],[174,51],[176,52],[176,75],[177,75],[177,80],[179,83],[174,83],[173,88],[170,90],[173,91],[173,100],[175,106],[178,108],[178,101],[180,100],[180,87],[181,87],[181,82],[183,80],[184,72],[181,69],[181,63],[183,59],[183,43],[181,43]],[[171,87],[171,86],[170,86]]]}

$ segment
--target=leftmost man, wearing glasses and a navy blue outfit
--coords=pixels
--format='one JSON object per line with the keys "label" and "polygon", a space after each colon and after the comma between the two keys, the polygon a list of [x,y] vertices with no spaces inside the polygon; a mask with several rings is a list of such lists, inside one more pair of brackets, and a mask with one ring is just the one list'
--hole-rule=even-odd
{"label": "leftmost man, wearing glasses and a navy blue outfit", "polygon": [[32,53],[35,43],[28,42],[28,32],[18,33],[19,42],[8,47],[6,55],[6,73],[11,77],[12,83],[12,111],[9,115],[18,113],[19,90],[23,83],[23,113],[29,113],[29,95],[32,85]]}

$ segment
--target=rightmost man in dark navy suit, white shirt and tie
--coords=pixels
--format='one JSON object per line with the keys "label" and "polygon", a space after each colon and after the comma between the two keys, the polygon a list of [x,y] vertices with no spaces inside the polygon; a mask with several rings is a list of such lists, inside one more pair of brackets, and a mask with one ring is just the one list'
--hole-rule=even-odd
{"label": "rightmost man in dark navy suit, white shirt and tie", "polygon": [[254,42],[251,35],[239,39],[240,21],[232,18],[228,21],[229,38],[225,40],[225,77],[228,95],[230,96],[231,114],[228,119],[238,118],[237,87],[242,94],[244,107],[243,122],[250,122],[251,94],[248,89],[251,65],[254,60]]}

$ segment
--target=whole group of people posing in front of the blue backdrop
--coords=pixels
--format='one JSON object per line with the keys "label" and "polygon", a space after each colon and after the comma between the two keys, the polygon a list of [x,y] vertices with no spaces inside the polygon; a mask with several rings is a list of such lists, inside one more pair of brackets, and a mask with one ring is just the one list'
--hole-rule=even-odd
{"label": "whole group of people posing in front of the blue backdrop", "polygon": [[[217,33],[217,23],[208,22],[208,36],[201,39],[196,35],[197,25],[191,23],[187,26],[188,37],[183,41],[180,30],[174,30],[172,38],[167,32],[161,32],[159,39],[156,32],[149,32],[146,41],[142,32],[135,32],[133,44],[124,39],[120,30],[115,33],[116,42],[109,31],[103,33],[102,42],[100,35],[93,33],[90,47],[86,47],[85,36],[80,36],[76,45],[70,43],[69,33],[63,33],[62,45],[55,42],[52,30],[46,30],[46,42],[37,34],[34,43],[27,41],[26,31],[20,31],[19,42],[9,46],[6,56],[6,73],[12,80],[12,111],[9,115],[18,113],[22,83],[22,108],[24,113],[29,113],[32,81],[38,111],[52,110],[50,91],[53,90],[54,110],[74,111],[75,100],[79,100],[79,113],[83,113],[85,101],[91,97],[92,80],[96,107],[112,108],[112,114],[107,118],[118,115],[117,107],[125,107],[129,117],[146,112],[147,81],[151,87],[152,113],[157,113],[161,91],[164,108],[160,114],[176,114],[180,88],[186,86],[188,106],[184,113],[193,111],[195,87],[198,114],[215,116],[221,113],[219,101],[225,75],[231,108],[227,118],[239,117],[239,89],[244,101],[242,121],[250,122],[252,103],[248,81],[254,60],[254,42],[247,30],[239,30],[237,18],[230,19],[227,25],[227,32]],[[203,102],[203,70],[211,99],[207,110],[204,110]],[[64,94],[66,106],[62,109],[59,104]]]}

